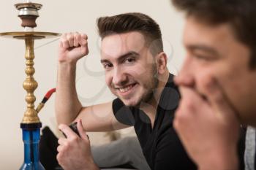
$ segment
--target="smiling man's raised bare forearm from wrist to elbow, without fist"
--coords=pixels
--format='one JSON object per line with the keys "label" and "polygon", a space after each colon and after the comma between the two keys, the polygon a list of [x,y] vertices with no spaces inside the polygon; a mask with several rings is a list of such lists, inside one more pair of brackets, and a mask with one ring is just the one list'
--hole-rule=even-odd
{"label": "smiling man's raised bare forearm from wrist to elbow, without fist", "polygon": [[58,123],[71,123],[82,108],[75,88],[75,69],[75,63],[59,62],[55,102]]}

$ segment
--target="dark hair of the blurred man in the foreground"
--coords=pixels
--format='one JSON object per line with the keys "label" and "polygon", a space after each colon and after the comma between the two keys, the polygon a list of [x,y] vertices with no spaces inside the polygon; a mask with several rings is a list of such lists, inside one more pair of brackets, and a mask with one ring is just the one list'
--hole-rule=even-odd
{"label": "dark hair of the blurred man in the foreground", "polygon": [[251,69],[256,68],[256,1],[255,0],[172,0],[175,7],[206,24],[227,23],[233,34],[248,46]]}

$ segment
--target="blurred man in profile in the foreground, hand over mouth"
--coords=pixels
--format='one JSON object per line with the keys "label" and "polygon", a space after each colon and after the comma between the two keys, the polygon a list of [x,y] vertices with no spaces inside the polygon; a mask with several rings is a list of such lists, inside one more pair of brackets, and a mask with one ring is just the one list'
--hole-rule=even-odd
{"label": "blurred man in profile in the foreground, hand over mouth", "polygon": [[174,126],[199,169],[238,169],[239,126],[256,125],[256,1],[173,4],[187,17]]}

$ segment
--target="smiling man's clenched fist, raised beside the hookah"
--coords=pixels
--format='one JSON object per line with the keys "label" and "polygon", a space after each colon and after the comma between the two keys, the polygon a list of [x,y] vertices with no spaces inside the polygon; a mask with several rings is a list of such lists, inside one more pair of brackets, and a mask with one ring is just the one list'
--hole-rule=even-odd
{"label": "smiling man's clenched fist, raised beside the hookah", "polygon": [[89,53],[86,34],[67,33],[59,42],[59,62],[76,63]]}

